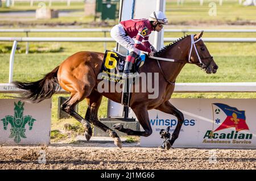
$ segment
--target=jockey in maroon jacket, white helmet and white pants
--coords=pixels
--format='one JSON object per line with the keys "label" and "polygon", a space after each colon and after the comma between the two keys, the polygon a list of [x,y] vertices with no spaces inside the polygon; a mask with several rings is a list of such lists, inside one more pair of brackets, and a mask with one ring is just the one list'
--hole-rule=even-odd
{"label": "jockey in maroon jacket, white helmet and white pants", "polygon": [[164,24],[168,24],[166,15],[162,11],[154,11],[149,19],[125,20],[112,28],[110,35],[117,43],[129,51],[129,55],[125,60],[123,78],[136,77],[138,75],[138,73],[134,75],[129,75],[129,73],[131,72],[135,58],[141,51],[154,56],[154,53],[157,51],[149,43],[148,37],[151,31],[161,31]]}

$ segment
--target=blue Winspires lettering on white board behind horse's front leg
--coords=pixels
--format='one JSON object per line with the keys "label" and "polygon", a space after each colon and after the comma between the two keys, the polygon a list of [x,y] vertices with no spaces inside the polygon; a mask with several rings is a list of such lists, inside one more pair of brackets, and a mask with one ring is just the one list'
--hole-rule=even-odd
{"label": "blue Winspires lettering on white board behind horse's front leg", "polygon": [[[158,115],[156,115],[156,119],[151,119],[150,120],[150,124],[152,126],[170,126],[170,127],[174,127],[175,125],[177,125],[178,121],[176,119],[158,119]],[[191,119],[191,120],[187,120],[185,119],[183,122],[183,125],[185,126],[194,126],[195,120]]]}

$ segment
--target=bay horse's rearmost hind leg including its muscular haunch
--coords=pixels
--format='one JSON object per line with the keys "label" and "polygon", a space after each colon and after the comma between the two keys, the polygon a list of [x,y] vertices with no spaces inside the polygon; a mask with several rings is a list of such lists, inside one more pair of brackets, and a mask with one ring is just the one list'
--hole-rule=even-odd
{"label": "bay horse's rearmost hind leg including its muscular haunch", "polygon": [[96,79],[93,69],[87,64],[84,65],[84,62],[81,62],[79,65],[76,64],[75,69],[73,68],[74,66],[75,65],[63,64],[60,65],[58,71],[57,77],[60,86],[64,90],[71,92],[70,98],[61,105],[61,110],[67,112],[84,125],[85,137],[86,140],[89,141],[92,136],[90,123],[75,111],[75,106],[90,95],[93,87],[96,85]]}

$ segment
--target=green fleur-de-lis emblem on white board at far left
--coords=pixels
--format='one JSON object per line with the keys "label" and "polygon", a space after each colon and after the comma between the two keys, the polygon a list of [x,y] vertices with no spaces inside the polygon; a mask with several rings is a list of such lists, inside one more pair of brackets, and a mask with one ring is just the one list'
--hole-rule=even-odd
{"label": "green fleur-de-lis emblem on white board at far left", "polygon": [[9,138],[14,138],[16,144],[21,141],[21,138],[26,138],[25,125],[28,123],[29,129],[33,128],[34,121],[36,121],[32,116],[23,116],[24,102],[19,101],[14,102],[14,116],[7,115],[1,121],[3,121],[3,129],[7,130],[8,124],[11,125],[11,134]]}

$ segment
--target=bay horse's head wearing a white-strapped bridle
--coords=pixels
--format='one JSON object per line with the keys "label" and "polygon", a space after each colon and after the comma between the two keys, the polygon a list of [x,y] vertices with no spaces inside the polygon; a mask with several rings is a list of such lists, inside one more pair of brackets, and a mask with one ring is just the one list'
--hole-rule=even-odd
{"label": "bay horse's head wearing a white-strapped bridle", "polygon": [[197,35],[191,35],[191,48],[188,51],[188,61],[200,66],[208,74],[216,73],[218,66],[214,62],[213,57],[210,56],[204,41],[201,39],[203,32],[201,31]]}

